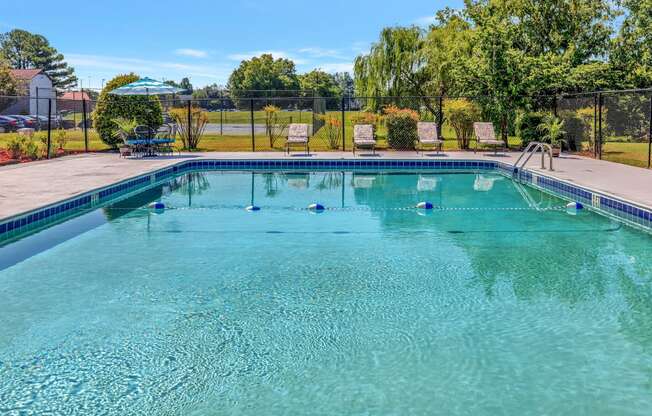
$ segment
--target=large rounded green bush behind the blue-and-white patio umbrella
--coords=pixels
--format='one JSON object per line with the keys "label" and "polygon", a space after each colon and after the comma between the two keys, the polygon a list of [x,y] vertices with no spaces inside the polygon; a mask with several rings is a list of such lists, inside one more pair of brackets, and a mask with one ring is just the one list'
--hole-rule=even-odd
{"label": "large rounded green bush behind the blue-and-white patio umbrella", "polygon": [[92,119],[97,133],[107,145],[115,148],[121,139],[116,136],[118,126],[113,122],[118,117],[135,119],[143,124],[158,129],[163,124],[163,109],[156,96],[113,95],[110,91],[139,79],[136,74],[118,75],[109,81],[97,100]]}

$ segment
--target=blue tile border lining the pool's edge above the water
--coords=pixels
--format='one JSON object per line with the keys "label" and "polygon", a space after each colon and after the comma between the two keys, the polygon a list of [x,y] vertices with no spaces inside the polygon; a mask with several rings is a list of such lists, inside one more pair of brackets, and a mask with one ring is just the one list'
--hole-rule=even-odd
{"label": "blue tile border lining the pool's edge above the water", "polygon": [[397,159],[211,159],[181,161],[173,166],[155,170],[115,184],[85,192],[27,213],[0,220],[0,239],[21,234],[62,219],[75,212],[106,204],[127,193],[138,191],[164,179],[197,170],[255,171],[255,170],[441,170],[441,171],[496,171],[513,177],[544,192],[566,200],[577,201],[595,211],[623,220],[631,225],[652,231],[652,209],[610,195],[589,190],[569,182],[499,161],[486,160],[397,160]]}

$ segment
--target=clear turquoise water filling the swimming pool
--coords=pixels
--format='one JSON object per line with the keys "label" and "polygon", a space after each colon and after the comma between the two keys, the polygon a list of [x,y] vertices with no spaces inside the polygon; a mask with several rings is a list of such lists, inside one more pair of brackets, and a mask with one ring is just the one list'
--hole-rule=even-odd
{"label": "clear turquoise water filling the swimming pool", "polygon": [[649,414],[652,239],[564,204],[181,176],[0,248],[0,414]]}

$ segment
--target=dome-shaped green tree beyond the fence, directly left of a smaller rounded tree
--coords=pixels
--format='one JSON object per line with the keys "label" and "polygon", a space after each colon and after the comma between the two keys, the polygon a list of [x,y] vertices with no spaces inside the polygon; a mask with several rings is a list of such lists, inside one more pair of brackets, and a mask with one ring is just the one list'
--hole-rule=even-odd
{"label": "dome-shaped green tree beyond the fence, directly left of a smaller rounded tree", "polygon": [[262,54],[240,62],[231,73],[227,88],[234,98],[254,97],[261,95],[255,91],[298,90],[299,78],[291,60]]}

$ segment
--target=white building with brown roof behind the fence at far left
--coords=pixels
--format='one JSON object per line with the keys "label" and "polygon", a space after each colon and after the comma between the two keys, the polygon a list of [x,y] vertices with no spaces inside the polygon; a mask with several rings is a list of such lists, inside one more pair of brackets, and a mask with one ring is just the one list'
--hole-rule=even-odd
{"label": "white building with brown roof behind the fence at far left", "polygon": [[[12,69],[11,75],[18,82],[19,95],[29,99],[19,100],[12,114],[48,115],[48,98],[52,98],[52,114],[57,113],[57,92],[52,80],[41,69]],[[5,111],[6,113],[6,111]]]}

